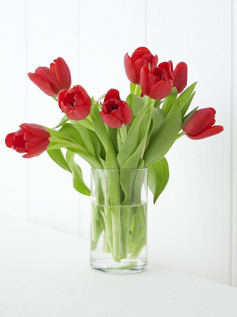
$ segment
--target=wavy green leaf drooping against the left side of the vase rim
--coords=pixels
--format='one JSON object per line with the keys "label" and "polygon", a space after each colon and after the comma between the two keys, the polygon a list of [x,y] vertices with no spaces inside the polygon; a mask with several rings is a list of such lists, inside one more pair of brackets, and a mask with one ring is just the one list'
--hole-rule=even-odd
{"label": "wavy green leaf drooping against the left side of the vase rim", "polygon": [[79,191],[79,193],[90,196],[91,191],[84,183],[81,168],[75,162],[74,155],[75,153],[72,153],[70,151],[66,152],[66,160],[72,171],[73,187],[75,188],[75,190]]}

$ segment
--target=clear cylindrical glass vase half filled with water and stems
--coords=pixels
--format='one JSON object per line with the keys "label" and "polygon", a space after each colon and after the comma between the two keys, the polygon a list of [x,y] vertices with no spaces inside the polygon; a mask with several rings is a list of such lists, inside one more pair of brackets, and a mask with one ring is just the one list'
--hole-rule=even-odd
{"label": "clear cylindrical glass vase half filled with water and stems", "polygon": [[94,270],[131,274],[147,266],[147,169],[91,169]]}

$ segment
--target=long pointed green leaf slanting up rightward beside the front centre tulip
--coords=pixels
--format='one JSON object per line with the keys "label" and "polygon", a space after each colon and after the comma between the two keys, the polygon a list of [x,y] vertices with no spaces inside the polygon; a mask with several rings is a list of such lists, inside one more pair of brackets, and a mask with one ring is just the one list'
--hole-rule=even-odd
{"label": "long pointed green leaf slanting up rightward beside the front centre tulip", "polygon": [[139,114],[134,118],[132,125],[127,133],[127,137],[119,150],[117,160],[119,167],[121,168],[125,161],[135,152],[138,147],[138,134],[144,116],[148,113],[150,104],[146,105]]}

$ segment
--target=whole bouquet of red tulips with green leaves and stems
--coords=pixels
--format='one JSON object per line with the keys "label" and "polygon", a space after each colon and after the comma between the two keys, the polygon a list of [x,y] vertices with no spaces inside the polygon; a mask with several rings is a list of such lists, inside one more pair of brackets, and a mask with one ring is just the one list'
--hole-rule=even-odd
{"label": "whole bouquet of red tulips with green leaves and stems", "polygon": [[[125,217],[118,208],[128,206],[134,195],[134,177],[123,178],[121,171],[148,168],[148,186],[155,203],[169,178],[165,155],[175,140],[183,135],[203,139],[223,131],[222,126],[214,126],[213,108],[195,107],[188,112],[196,83],[186,88],[186,63],[180,62],[175,69],[172,61],[157,64],[157,55],[146,47],[139,47],[131,57],[126,54],[124,66],[130,94],[121,99],[117,89],[110,89],[100,98],[94,98],[81,85],[71,87],[70,70],[63,58],[58,57],[50,68],[38,67],[28,76],[58,102],[64,113],[62,120],[54,128],[23,123],[5,139],[8,147],[25,153],[24,158],[47,151],[51,159],[72,174],[74,188],[85,195],[90,195],[90,189],[74,160],[75,154],[92,169],[118,171],[107,180],[106,193],[98,177],[97,201],[102,201],[98,205],[110,208],[92,210],[91,218],[94,248],[104,231],[107,234],[104,251],[110,252],[117,263],[128,253],[138,256],[141,248],[137,243],[144,236],[146,244],[142,223],[145,220],[136,217],[139,209],[127,209],[129,217]],[[61,148],[67,150],[65,157]]]}

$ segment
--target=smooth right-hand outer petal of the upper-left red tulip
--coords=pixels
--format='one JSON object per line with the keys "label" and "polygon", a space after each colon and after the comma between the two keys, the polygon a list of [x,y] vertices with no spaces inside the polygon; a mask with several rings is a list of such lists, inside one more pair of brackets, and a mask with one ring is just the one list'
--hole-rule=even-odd
{"label": "smooth right-hand outer petal of the upper-left red tulip", "polygon": [[55,60],[55,73],[57,81],[62,89],[69,89],[71,87],[71,73],[62,57],[58,57]]}

